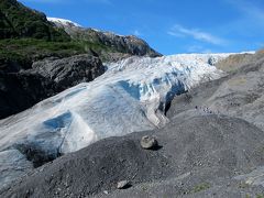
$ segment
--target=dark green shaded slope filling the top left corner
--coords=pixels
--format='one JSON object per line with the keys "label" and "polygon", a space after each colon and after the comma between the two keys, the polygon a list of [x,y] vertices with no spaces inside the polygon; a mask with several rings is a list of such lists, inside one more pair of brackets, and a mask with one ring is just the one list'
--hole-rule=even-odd
{"label": "dark green shaded slope filling the top left corner", "polygon": [[69,41],[69,36],[54,28],[46,20],[45,14],[31,10],[16,0],[1,0],[0,15],[0,38],[31,37]]}

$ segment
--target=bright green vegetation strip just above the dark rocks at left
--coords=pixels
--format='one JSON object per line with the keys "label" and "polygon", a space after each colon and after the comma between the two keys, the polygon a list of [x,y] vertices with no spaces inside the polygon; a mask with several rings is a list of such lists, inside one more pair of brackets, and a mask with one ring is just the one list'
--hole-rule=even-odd
{"label": "bright green vegetation strip just above the dark rocks at left", "polygon": [[89,54],[91,51],[114,52],[110,47],[89,42],[53,42],[35,38],[7,38],[0,40],[0,63],[3,62],[31,62],[45,57],[68,57],[77,54]]}

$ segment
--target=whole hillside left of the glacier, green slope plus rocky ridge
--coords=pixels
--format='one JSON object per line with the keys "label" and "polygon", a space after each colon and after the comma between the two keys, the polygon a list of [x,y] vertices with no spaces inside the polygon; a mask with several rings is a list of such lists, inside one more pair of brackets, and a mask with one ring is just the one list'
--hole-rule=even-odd
{"label": "whole hillside left of the glacier, green slope plus rocky ridge", "polygon": [[[77,54],[99,54],[103,61],[120,59],[131,55],[161,56],[144,41],[111,34],[103,40],[85,29],[54,25],[44,13],[24,7],[16,0],[0,2],[0,56],[6,62],[22,64],[45,57],[68,57]],[[76,26],[72,26],[75,30]],[[65,32],[67,31],[67,33]],[[89,30],[89,29],[88,29]],[[78,34],[78,36],[77,36]],[[82,36],[84,35],[84,36]],[[116,44],[113,44],[116,43]]]}

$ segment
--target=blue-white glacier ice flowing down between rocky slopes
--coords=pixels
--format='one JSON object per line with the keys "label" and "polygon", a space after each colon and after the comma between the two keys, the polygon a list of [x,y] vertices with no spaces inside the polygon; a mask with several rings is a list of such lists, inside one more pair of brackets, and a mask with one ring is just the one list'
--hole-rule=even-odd
{"label": "blue-white glacier ice flowing down between rocky slopes", "polygon": [[[0,120],[0,155],[36,150],[56,158],[108,136],[162,128],[169,122],[166,105],[176,95],[223,76],[215,65],[229,55],[180,54],[107,63],[106,73],[94,81]],[[21,158],[16,155],[15,161]]]}

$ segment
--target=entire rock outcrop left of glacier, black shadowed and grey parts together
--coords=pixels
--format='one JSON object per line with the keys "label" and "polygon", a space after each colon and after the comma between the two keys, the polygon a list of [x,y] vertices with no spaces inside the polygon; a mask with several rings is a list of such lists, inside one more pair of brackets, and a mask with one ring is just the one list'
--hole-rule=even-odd
{"label": "entire rock outcrop left of glacier, black shadowed and grey parts together", "polygon": [[0,73],[0,119],[79,82],[94,80],[105,72],[101,61],[90,55],[47,58],[34,63],[30,69],[12,63]]}

